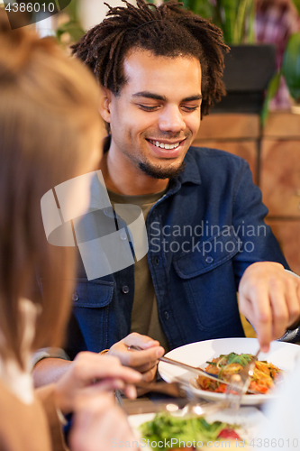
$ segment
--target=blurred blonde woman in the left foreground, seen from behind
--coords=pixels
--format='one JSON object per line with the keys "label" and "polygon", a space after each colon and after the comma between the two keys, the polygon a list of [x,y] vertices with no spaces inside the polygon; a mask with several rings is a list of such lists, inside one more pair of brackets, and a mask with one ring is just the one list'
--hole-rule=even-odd
{"label": "blurred blonde woman in the left foreground, seen from behind", "polygon": [[[0,10],[1,450],[66,449],[60,419],[70,411],[76,413],[70,439],[76,451],[107,449],[113,431],[114,438],[131,437],[123,414],[102,392],[130,393],[140,374],[114,357],[83,353],[58,384],[34,392],[29,368],[35,349],[61,345],[75,271],[72,248],[46,241],[41,198],[95,169],[104,136],[98,101],[85,68],[51,40],[12,32]],[[82,213],[88,198],[86,187]],[[34,292],[36,267],[49,281],[43,300]]]}

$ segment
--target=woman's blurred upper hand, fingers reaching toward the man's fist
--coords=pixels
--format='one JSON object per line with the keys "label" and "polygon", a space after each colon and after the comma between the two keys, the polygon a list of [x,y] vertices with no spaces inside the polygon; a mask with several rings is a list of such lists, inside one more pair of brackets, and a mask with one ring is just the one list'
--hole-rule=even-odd
{"label": "woman's blurred upper hand, fingers reaching toward the man's fist", "polygon": [[79,353],[56,383],[56,400],[62,413],[67,414],[75,409],[77,396],[123,390],[126,396],[135,398],[132,384],[140,381],[141,374],[124,367],[116,357]]}

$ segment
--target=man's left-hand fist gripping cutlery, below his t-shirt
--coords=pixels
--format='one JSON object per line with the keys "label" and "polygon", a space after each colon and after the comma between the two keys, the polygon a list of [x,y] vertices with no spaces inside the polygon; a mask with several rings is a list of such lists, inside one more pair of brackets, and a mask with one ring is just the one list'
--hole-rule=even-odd
{"label": "man's left-hand fist gripping cutlery, below his t-shirt", "polygon": [[[128,348],[132,345],[139,346],[143,350],[131,351]],[[131,366],[134,370],[142,373],[144,382],[153,381],[157,371],[158,358],[164,353],[165,350],[159,346],[158,341],[135,332],[115,343],[108,351],[108,354],[119,357],[123,365]]]}

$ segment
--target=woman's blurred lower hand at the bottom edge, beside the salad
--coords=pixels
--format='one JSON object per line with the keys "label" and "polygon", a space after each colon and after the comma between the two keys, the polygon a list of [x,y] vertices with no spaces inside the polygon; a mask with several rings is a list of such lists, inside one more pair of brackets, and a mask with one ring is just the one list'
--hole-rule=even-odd
{"label": "woman's blurred lower hand at the bottom edge, beside the salad", "polygon": [[108,394],[77,400],[70,432],[72,451],[107,451],[136,440],[125,413]]}

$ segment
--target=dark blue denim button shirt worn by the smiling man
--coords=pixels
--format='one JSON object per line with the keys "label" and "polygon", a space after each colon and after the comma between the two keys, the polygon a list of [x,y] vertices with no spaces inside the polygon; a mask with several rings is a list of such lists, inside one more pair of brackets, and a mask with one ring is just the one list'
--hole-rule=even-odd
{"label": "dark blue denim button shirt worn by the smiling man", "polygon": [[[191,147],[186,168],[147,218],[148,262],[170,349],[244,336],[236,292],[253,262],[288,268],[264,223],[268,213],[249,165],[228,152]],[[79,262],[65,351],[100,352],[130,333],[133,265],[87,281]]]}

